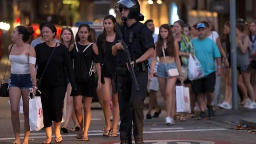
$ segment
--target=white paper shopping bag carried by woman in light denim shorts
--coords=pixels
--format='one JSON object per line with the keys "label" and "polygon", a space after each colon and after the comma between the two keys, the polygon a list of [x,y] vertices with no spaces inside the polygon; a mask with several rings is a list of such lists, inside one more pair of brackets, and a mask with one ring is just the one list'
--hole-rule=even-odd
{"label": "white paper shopping bag carried by woman in light denim shorts", "polygon": [[191,113],[189,88],[176,86],[176,107],[177,112]]}

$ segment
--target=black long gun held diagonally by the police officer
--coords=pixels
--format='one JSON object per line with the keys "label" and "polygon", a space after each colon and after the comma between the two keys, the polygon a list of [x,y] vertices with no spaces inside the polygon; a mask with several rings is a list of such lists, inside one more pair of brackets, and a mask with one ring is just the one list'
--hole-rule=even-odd
{"label": "black long gun held diagonally by the police officer", "polygon": [[121,31],[120,25],[118,23],[116,24],[116,33],[120,36],[120,39],[122,41],[122,45],[124,47],[124,52],[125,52],[125,57],[126,57],[126,60],[127,60],[127,64],[128,64],[130,73],[131,73],[132,80],[134,82],[136,90],[139,91],[140,88],[139,88],[139,84],[138,84],[138,81],[137,81],[135,73],[134,73],[134,67],[131,65],[131,55],[130,55],[130,52],[129,52],[129,47],[125,43],[125,41],[123,40],[122,31]]}

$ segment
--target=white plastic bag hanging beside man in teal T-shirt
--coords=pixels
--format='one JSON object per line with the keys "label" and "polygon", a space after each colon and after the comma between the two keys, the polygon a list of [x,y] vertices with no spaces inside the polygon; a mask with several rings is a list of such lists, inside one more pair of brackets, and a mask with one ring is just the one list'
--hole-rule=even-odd
{"label": "white plastic bag hanging beside man in teal T-shirt", "polygon": [[189,55],[188,77],[193,81],[204,76],[203,67],[195,56]]}

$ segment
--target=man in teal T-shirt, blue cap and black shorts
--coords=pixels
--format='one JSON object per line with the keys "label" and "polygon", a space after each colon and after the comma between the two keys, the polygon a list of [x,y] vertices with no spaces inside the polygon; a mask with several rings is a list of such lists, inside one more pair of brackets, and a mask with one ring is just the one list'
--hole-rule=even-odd
{"label": "man in teal T-shirt, blue cap and black shorts", "polygon": [[197,96],[197,102],[201,111],[198,120],[205,120],[207,119],[205,113],[205,95],[207,97],[208,117],[214,117],[214,111],[212,109],[213,92],[216,81],[214,61],[216,59],[218,67],[217,74],[220,76],[221,54],[216,43],[207,38],[205,24],[199,23],[196,28],[198,30],[198,38],[192,40],[192,43],[195,48],[195,56],[203,67],[204,77],[192,81],[192,89],[193,93]]}

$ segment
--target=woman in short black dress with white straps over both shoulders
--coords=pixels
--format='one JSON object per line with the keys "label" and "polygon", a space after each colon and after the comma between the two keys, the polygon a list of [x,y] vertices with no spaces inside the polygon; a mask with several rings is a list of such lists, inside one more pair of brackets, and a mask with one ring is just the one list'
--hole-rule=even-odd
{"label": "woman in short black dress with white straps over both shoulders", "polygon": [[[100,72],[100,58],[99,51],[96,44],[92,43],[90,37],[90,26],[88,24],[81,24],[78,28],[76,35],[76,42],[74,45],[70,46],[71,58],[74,62],[74,72],[76,77],[76,83],[78,85],[77,90],[72,90],[70,96],[74,96],[74,108],[77,120],[80,124],[80,130],[77,133],[77,138],[83,138],[83,141],[89,141],[88,129],[91,120],[91,102],[93,96],[96,95],[96,84],[93,73],[93,62],[95,63],[95,68],[97,76],[101,77]],[[77,67],[77,63],[84,63]],[[85,68],[85,69],[83,69]],[[83,70],[81,70],[83,69]],[[79,73],[82,72],[82,73]],[[88,79],[81,78],[81,75],[87,72]],[[97,81],[97,89],[101,88],[100,79]],[[82,101],[84,110],[84,124],[82,115]]]}

